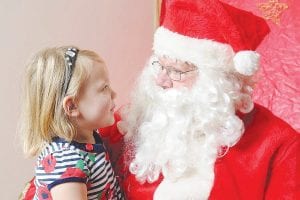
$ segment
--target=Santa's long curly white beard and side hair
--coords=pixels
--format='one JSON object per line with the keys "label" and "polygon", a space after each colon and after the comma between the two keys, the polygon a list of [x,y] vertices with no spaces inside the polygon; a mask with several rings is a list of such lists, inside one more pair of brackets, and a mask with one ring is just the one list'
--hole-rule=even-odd
{"label": "Santa's long curly white beard and side hair", "polygon": [[[132,152],[129,170],[140,182],[154,182],[163,174],[156,199],[206,199],[218,150],[233,146],[243,133],[235,115],[237,89],[225,79],[212,80],[216,72],[207,72],[192,89],[164,90],[154,82],[155,73],[151,66],[144,70],[122,116]],[[220,81],[231,95],[219,87]]]}

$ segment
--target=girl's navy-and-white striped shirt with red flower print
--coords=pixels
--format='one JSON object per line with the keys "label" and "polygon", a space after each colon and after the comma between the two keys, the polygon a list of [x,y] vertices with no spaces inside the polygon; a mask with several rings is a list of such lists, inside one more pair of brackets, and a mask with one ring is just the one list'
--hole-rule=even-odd
{"label": "girl's navy-and-white striped shirt with red flower print", "polygon": [[34,200],[49,200],[56,185],[80,182],[87,186],[88,199],[124,199],[108,153],[97,133],[96,144],[67,142],[54,138],[36,163]]}

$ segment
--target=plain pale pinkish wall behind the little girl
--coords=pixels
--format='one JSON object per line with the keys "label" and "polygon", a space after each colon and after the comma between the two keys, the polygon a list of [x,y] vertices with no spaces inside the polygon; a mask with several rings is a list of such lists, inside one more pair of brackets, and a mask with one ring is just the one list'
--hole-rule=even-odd
{"label": "plain pale pinkish wall behind the little girl", "polygon": [[17,199],[33,176],[17,121],[25,63],[41,48],[74,44],[98,52],[110,71],[118,106],[151,53],[153,0],[0,1],[0,199]]}

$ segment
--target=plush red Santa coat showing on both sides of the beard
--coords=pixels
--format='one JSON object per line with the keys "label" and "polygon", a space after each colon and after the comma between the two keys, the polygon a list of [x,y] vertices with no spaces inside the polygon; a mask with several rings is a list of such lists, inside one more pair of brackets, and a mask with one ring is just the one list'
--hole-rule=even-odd
{"label": "plush red Santa coat showing on both sides of the beard", "polygon": [[[243,120],[243,137],[216,161],[209,199],[299,199],[300,135],[259,105]],[[141,185],[127,172],[123,186],[130,200],[152,200],[160,181]]]}

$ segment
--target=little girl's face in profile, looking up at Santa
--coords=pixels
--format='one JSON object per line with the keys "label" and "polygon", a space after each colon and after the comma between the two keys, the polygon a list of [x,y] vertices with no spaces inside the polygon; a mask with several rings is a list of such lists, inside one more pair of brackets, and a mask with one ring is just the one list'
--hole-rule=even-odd
{"label": "little girl's face in profile, looking up at Santa", "polygon": [[94,130],[114,123],[114,98],[105,63],[94,62],[78,97],[79,128]]}

